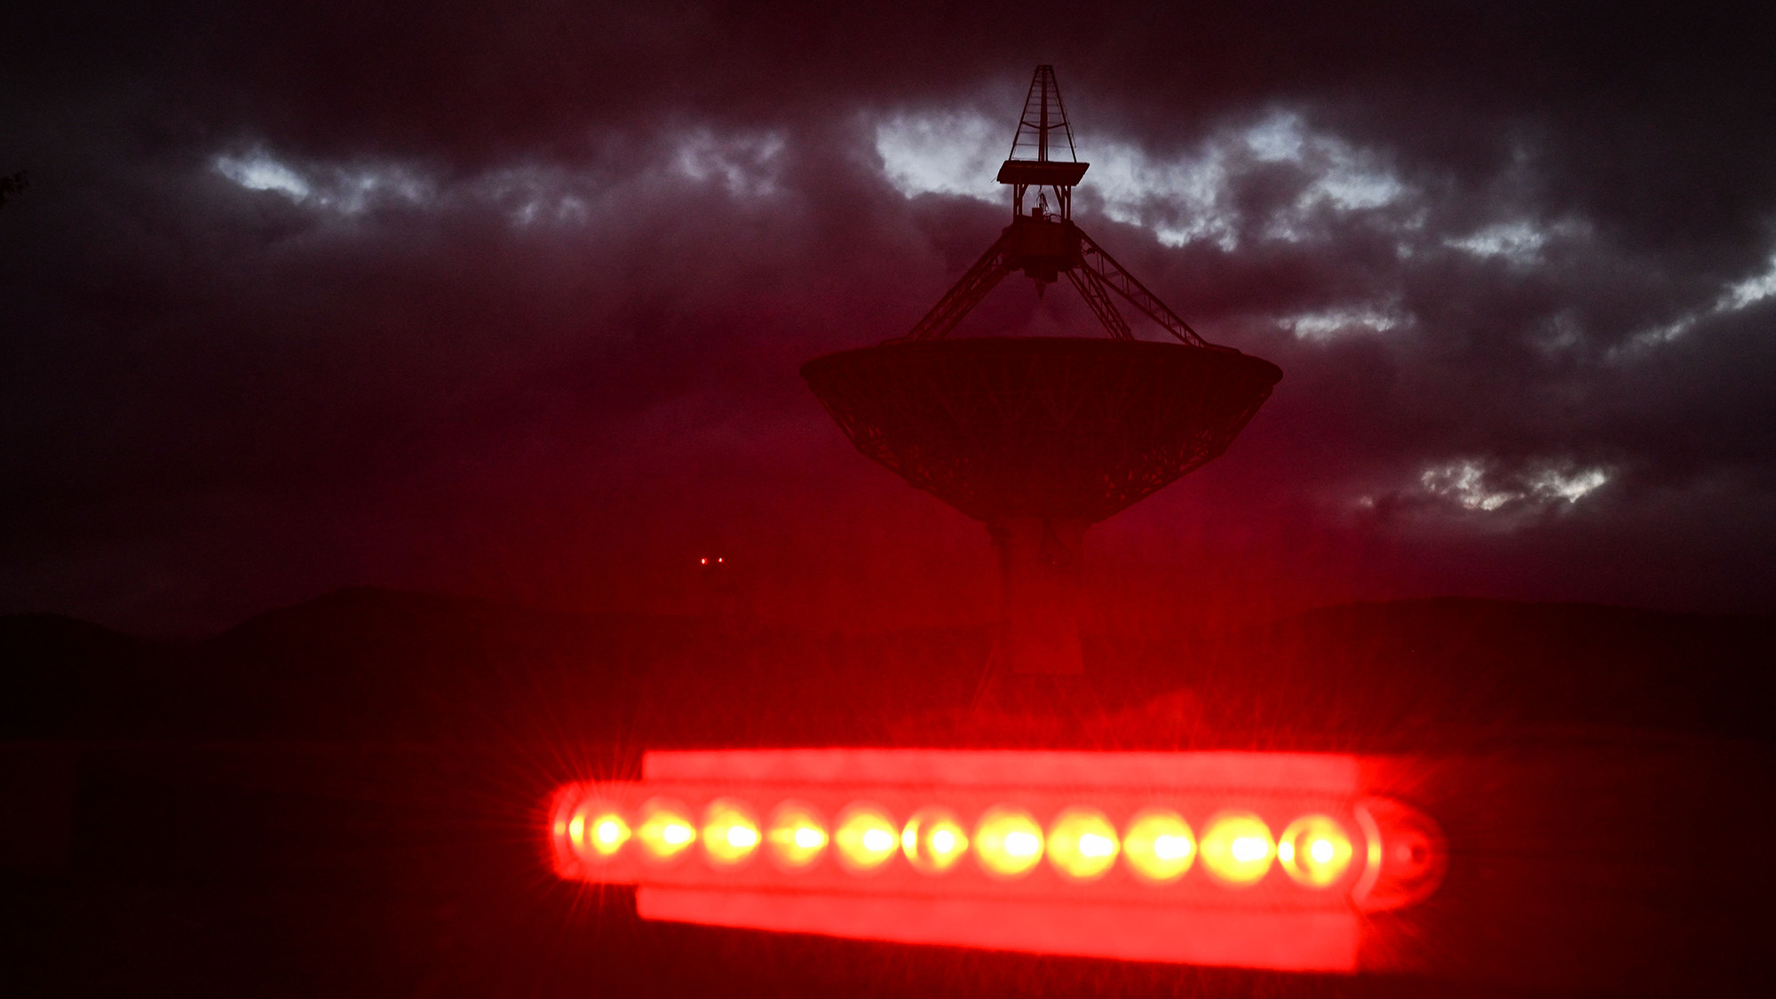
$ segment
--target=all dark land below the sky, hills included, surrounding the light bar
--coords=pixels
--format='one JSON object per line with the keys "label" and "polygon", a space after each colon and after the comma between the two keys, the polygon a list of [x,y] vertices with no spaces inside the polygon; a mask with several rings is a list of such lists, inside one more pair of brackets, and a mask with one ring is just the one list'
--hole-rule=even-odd
{"label": "all dark land below the sky, hills included, surrounding the light bar", "polygon": [[[0,992],[1769,994],[1776,622],[1412,601],[1089,636],[810,635],[343,590],[156,643],[0,619]],[[982,715],[970,706],[1000,704]],[[1412,754],[1449,876],[1403,974],[1119,965],[643,924],[540,807],[643,748]]]}

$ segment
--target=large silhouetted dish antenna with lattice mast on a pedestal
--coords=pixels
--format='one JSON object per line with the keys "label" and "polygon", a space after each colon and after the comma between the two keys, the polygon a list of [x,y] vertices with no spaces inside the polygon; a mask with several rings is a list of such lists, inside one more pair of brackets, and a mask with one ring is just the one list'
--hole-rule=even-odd
{"label": "large silhouetted dish antenna with lattice mast on a pedestal", "polygon": [[[861,453],[987,524],[1005,587],[1000,667],[1080,672],[1066,594],[1087,524],[1224,453],[1282,372],[1204,341],[1073,222],[1089,164],[1051,66],[1035,68],[1011,153],[998,171],[1011,226],[955,286],[906,336],[815,357],[801,373]],[[1025,210],[1032,187],[1037,204]],[[1108,340],[950,340],[1014,270],[1037,293],[1066,274]],[[1115,299],[1176,343],[1137,340]]]}

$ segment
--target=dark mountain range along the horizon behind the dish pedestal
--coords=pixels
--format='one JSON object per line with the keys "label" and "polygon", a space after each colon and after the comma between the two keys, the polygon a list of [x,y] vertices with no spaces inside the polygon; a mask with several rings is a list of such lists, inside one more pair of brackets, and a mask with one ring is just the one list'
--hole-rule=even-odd
{"label": "dark mountain range along the horizon behind the dish pedestal", "polygon": [[0,718],[7,738],[1405,750],[1598,727],[1764,738],[1776,715],[1767,617],[1423,599],[1087,635],[1087,681],[1016,681],[1034,684],[1023,709],[1066,702],[1046,725],[984,718],[989,647],[986,627],[821,635],[346,588],[190,647],[0,619]]}

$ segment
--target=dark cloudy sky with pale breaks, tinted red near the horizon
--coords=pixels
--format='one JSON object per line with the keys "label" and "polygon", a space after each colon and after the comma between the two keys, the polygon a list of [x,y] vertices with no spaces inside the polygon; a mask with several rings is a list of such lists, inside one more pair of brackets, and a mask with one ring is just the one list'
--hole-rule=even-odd
{"label": "dark cloudy sky with pale breaks, tinted red near the horizon", "polygon": [[[1284,380],[1101,601],[1776,610],[1776,20],[1710,5],[46,4],[0,39],[0,611],[350,583],[973,620],[796,368],[1076,217]],[[1724,5],[1723,5],[1724,9]],[[1009,279],[964,332],[1094,332]],[[1137,334],[1158,338],[1153,327]]]}

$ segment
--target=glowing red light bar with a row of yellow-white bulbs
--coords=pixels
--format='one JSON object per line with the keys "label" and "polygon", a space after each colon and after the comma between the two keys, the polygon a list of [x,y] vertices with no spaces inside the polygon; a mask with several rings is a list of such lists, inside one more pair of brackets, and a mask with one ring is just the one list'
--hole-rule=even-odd
{"label": "glowing red light bar with a row of yellow-white bulbs", "polygon": [[1437,887],[1424,814],[1327,754],[650,752],[568,784],[563,878],[645,919],[1122,960],[1355,971]]}

